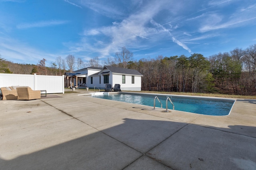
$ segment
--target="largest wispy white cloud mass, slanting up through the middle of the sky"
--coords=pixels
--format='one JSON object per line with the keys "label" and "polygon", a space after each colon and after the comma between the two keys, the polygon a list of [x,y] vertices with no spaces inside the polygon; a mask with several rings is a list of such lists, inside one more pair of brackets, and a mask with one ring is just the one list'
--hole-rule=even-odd
{"label": "largest wispy white cloud mass, slanting up through the middle of the sky", "polygon": [[[73,46],[76,50],[85,50],[82,44],[86,41],[86,51],[100,52],[103,56],[108,56],[110,53],[119,51],[120,47],[135,47],[140,40],[149,40],[149,35],[154,34],[154,29],[148,28],[145,25],[152,19],[152,17],[159,11],[161,4],[149,4],[143,7],[143,10],[138,11],[136,14],[132,14],[128,18],[122,20],[121,22],[112,22],[111,26],[105,26],[101,28],[94,28],[91,30],[84,31],[84,36],[92,35],[102,35],[108,37],[109,42],[104,44],[101,40],[97,40],[94,45],[100,45],[101,48],[97,46],[90,45],[88,40],[83,40],[80,44]],[[95,38],[95,37],[94,37]],[[96,38],[95,38],[96,39]],[[102,42],[99,44],[98,42]],[[78,46],[80,48],[78,48]],[[92,53],[93,53],[92,52]]]}

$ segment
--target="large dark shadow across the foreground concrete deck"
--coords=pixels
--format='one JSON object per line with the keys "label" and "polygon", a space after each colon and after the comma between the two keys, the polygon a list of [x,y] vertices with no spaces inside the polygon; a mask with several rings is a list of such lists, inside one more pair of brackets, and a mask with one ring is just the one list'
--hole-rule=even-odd
{"label": "large dark shadow across the foreground concrete deck", "polygon": [[[222,130],[172,121],[124,119],[121,125],[75,140],[12,160],[0,159],[0,169],[231,169],[237,168],[233,157],[251,160],[254,165],[256,139]],[[145,156],[150,161],[140,163]]]}

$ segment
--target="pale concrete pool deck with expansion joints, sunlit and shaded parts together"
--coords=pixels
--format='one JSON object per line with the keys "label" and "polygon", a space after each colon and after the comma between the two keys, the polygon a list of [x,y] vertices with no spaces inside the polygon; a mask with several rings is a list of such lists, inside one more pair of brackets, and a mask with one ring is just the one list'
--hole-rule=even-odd
{"label": "pale concrete pool deck with expansion joints, sunlit and shaded parts together", "polygon": [[256,100],[237,99],[230,115],[208,116],[76,91],[0,101],[0,169],[256,167]]}

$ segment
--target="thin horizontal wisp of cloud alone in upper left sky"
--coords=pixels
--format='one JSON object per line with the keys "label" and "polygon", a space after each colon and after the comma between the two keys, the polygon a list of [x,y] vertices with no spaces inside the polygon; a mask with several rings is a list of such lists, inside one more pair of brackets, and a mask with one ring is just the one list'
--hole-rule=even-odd
{"label": "thin horizontal wisp of cloud alone in upper left sky", "polygon": [[47,27],[66,24],[68,21],[64,20],[51,20],[51,21],[40,21],[34,23],[24,23],[17,25],[18,29],[34,28],[34,27]]}

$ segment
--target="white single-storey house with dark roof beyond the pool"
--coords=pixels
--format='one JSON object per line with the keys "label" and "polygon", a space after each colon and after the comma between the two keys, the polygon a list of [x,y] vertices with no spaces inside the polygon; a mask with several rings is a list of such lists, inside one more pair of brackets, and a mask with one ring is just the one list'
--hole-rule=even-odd
{"label": "white single-storey house with dark roof beyond the pool", "polygon": [[134,69],[108,65],[103,68],[87,67],[76,70],[75,73],[65,73],[65,75],[65,87],[72,85],[73,87],[104,89],[106,84],[111,84],[112,87],[115,84],[120,84],[122,91],[141,91],[141,77],[143,76]]}

